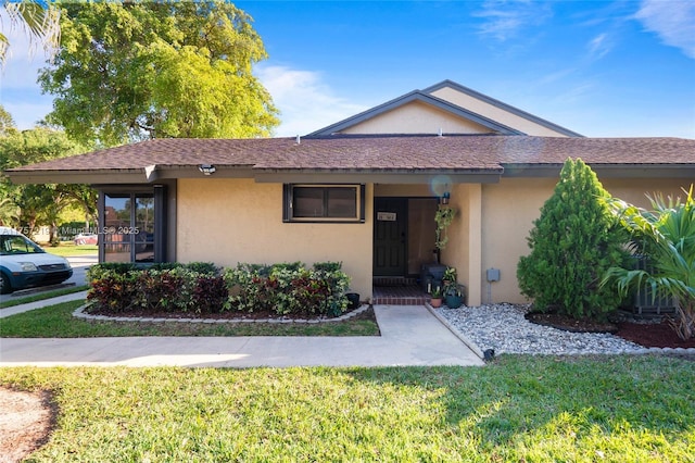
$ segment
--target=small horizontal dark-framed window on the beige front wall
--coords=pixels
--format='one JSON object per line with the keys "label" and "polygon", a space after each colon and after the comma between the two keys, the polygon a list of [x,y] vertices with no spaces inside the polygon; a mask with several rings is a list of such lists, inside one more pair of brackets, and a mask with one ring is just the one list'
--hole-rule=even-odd
{"label": "small horizontal dark-framed window on the beige front wall", "polygon": [[365,221],[364,185],[285,185],[283,222]]}

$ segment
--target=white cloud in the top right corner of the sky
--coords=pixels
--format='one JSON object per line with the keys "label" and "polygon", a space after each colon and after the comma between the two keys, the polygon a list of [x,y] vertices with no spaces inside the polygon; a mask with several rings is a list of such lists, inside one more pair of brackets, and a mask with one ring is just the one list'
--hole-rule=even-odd
{"label": "white cloud in the top right corner of the sky", "polygon": [[695,59],[695,1],[644,0],[635,17],[664,43]]}

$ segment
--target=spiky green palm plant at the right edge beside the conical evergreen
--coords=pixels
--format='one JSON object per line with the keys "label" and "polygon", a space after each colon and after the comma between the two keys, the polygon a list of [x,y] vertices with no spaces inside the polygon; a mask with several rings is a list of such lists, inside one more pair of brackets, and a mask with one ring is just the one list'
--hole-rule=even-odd
{"label": "spiky green palm plant at the right edge beside the conical evergreen", "polygon": [[602,285],[614,284],[621,295],[650,288],[653,298],[672,299],[673,328],[681,339],[695,337],[695,199],[693,185],[681,198],[648,196],[653,211],[610,200],[611,211],[631,232],[631,250],[648,259],[646,270],[611,267]]}

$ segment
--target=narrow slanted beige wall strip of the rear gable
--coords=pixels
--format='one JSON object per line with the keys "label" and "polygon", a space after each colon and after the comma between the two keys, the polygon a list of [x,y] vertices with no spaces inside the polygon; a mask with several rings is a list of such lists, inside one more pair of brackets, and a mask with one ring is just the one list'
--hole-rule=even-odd
{"label": "narrow slanted beige wall strip of the rear gable", "polygon": [[535,124],[532,121],[520,117],[516,114],[508,113],[507,111],[497,108],[493,104],[478,100],[469,95],[462,93],[453,88],[444,87],[434,92],[432,96],[446,100],[458,107],[465,108],[477,114],[491,118],[500,124],[516,128],[528,135],[535,135],[541,137],[566,137],[565,134],[560,134],[540,124]]}

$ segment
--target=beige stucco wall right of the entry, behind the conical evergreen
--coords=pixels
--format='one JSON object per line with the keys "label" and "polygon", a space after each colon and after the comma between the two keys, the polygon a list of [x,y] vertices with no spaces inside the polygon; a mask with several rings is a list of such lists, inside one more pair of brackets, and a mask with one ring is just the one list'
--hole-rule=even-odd
{"label": "beige stucco wall right of the entry, behind the conical evergreen", "polygon": [[[530,252],[527,237],[556,183],[557,178],[503,178],[500,184],[482,186],[482,303],[528,302],[519,292],[517,263]],[[649,205],[646,192],[683,197],[681,185],[673,179],[611,178],[602,183],[614,197],[643,208]],[[501,279],[488,284],[484,274],[491,267],[501,270]]]}

